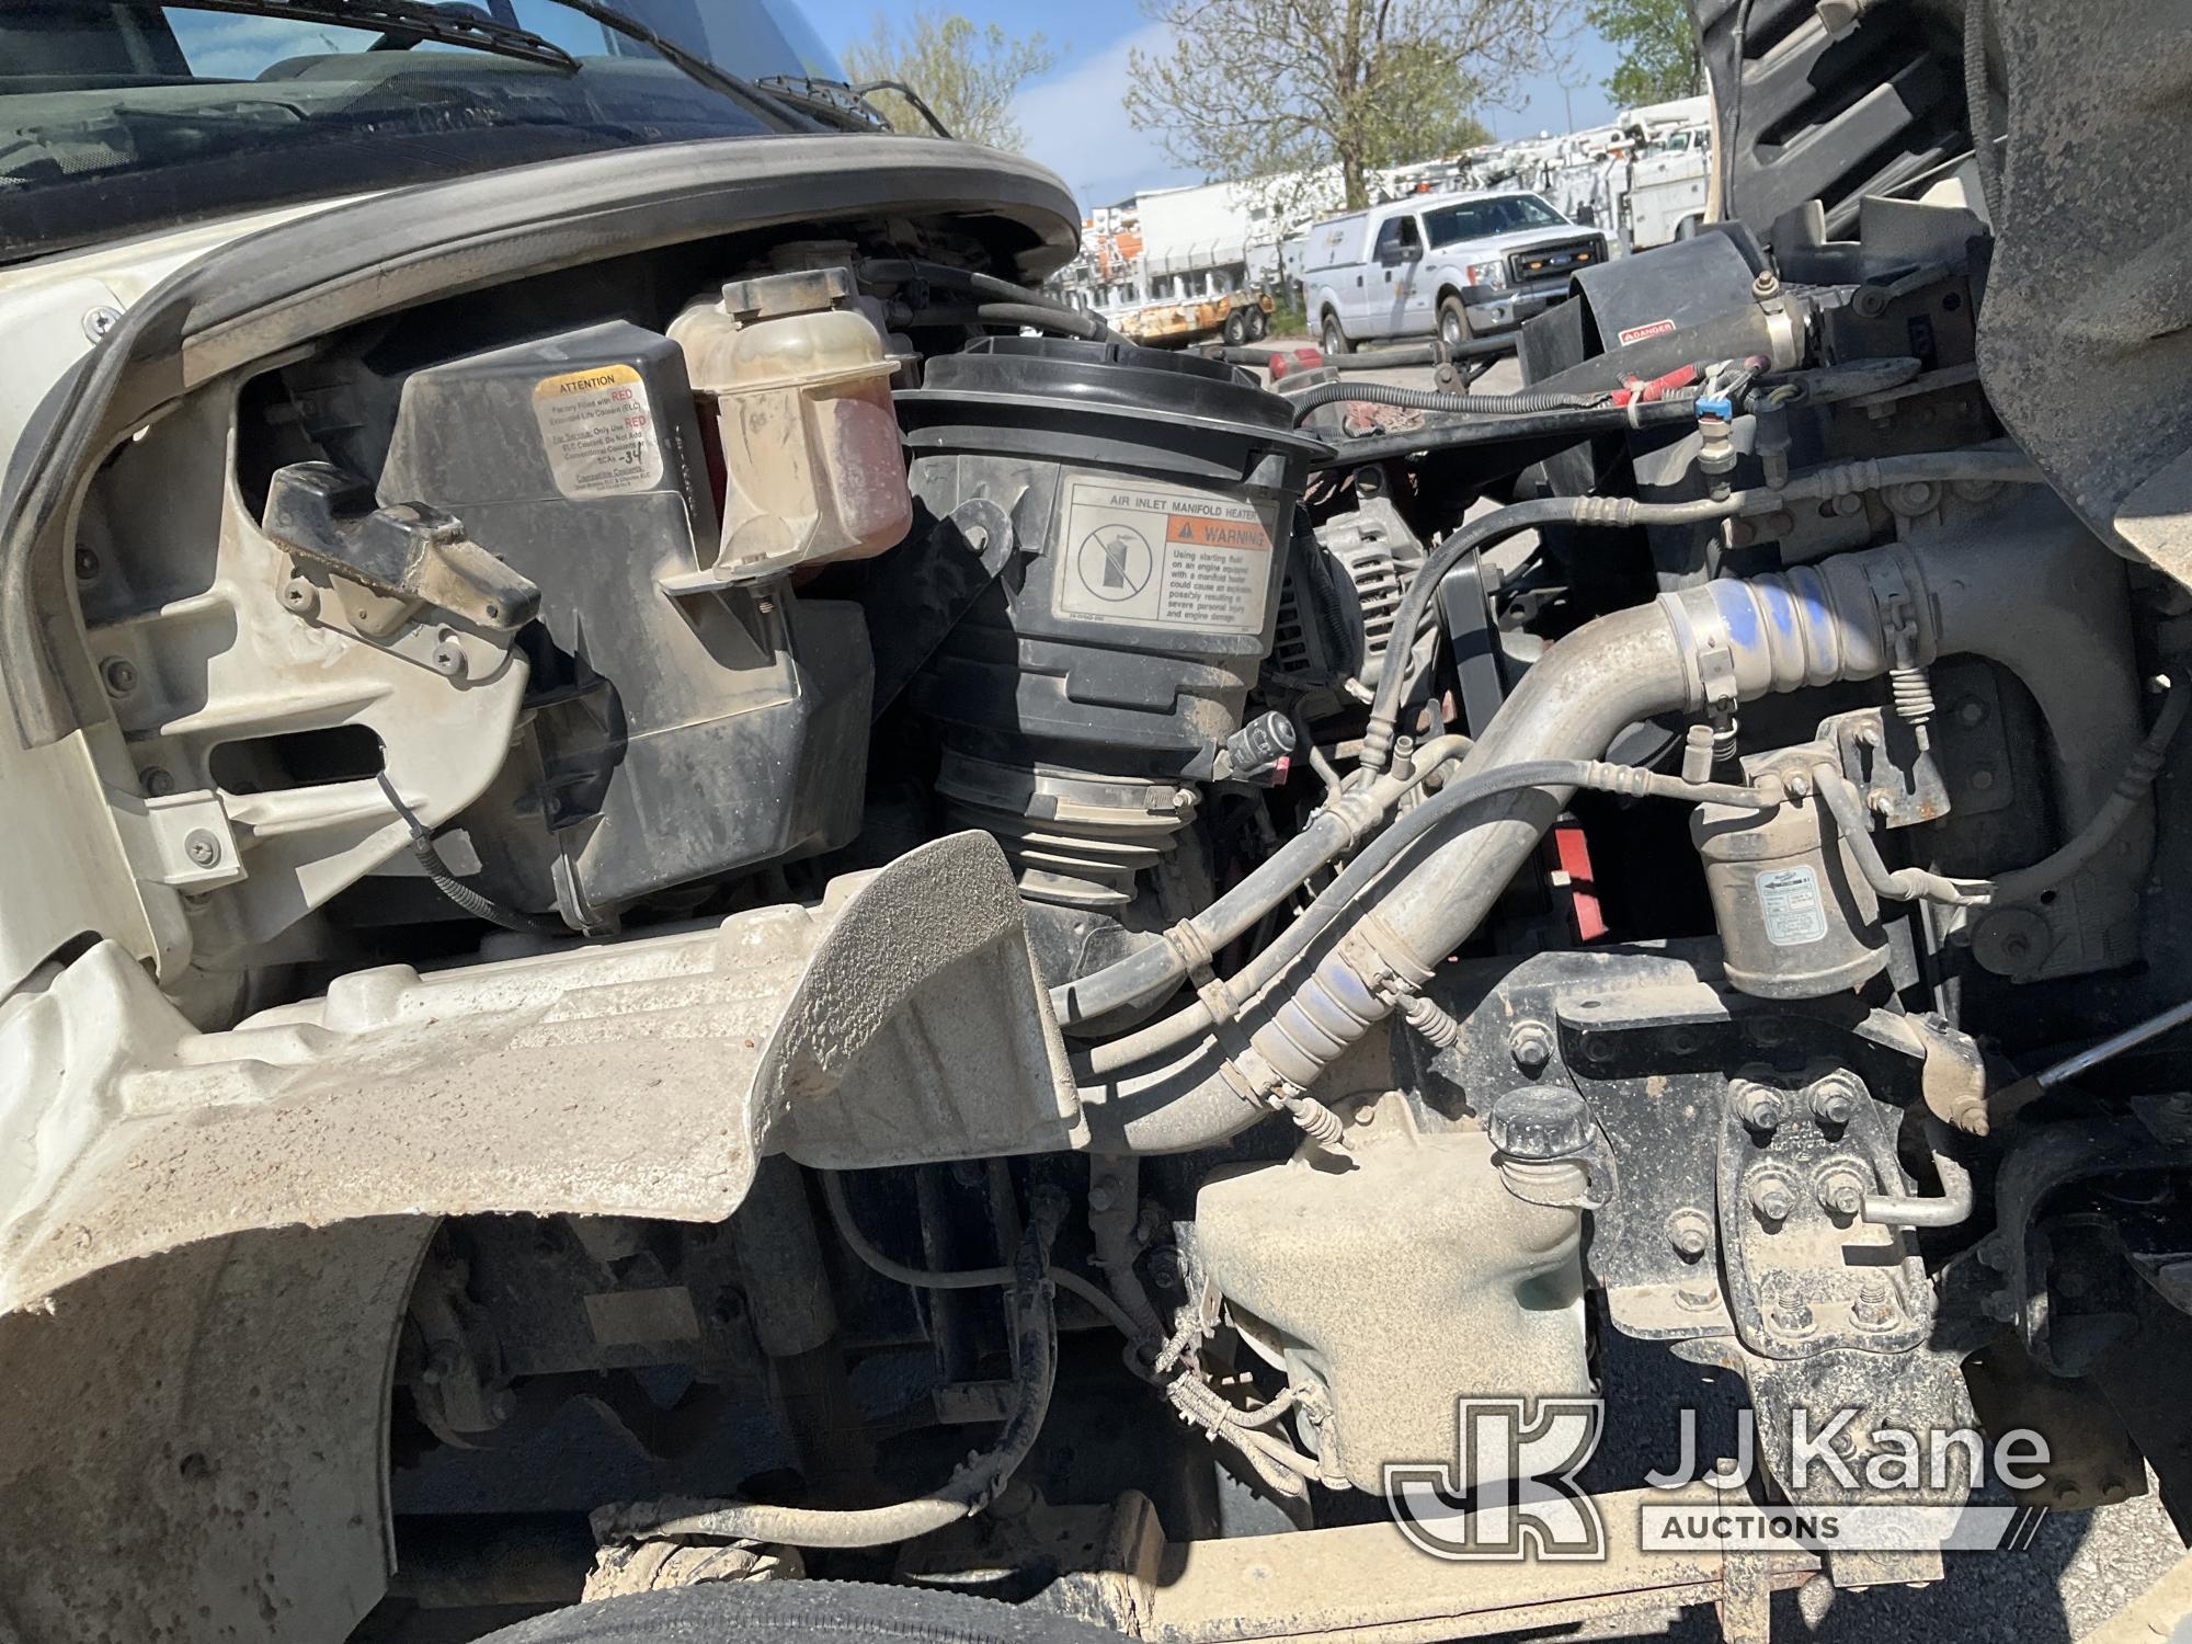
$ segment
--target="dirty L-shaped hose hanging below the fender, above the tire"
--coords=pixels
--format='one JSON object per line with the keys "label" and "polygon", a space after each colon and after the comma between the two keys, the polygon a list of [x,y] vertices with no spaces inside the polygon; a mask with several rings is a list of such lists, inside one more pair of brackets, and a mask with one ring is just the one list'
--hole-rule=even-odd
{"label": "dirty L-shaped hose hanging below the fender, above the tire", "polygon": [[1065,1195],[1039,1190],[1030,1203],[1028,1234],[1013,1260],[1006,1320],[1013,1326],[1013,1414],[991,1449],[951,1471],[932,1495],[883,1508],[765,1506],[758,1502],[618,1502],[592,1515],[596,1541],[647,1537],[717,1537],[774,1541],[787,1548],[888,1548],[958,1523],[997,1499],[1035,1447],[1050,1412],[1059,1374],[1059,1322],[1050,1298],[1050,1243],[1065,1219]]}

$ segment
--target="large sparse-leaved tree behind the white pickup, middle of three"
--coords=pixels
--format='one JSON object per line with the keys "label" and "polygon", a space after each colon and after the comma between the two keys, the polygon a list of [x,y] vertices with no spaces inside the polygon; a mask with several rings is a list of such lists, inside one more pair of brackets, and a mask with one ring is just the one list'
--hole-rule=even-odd
{"label": "large sparse-leaved tree behind the white pickup, middle of three", "polygon": [[1548,59],[1565,0],[1149,0],[1173,31],[1133,53],[1127,118],[1179,164],[1256,178],[1287,210],[1337,167],[1370,171],[1484,140],[1471,110]]}

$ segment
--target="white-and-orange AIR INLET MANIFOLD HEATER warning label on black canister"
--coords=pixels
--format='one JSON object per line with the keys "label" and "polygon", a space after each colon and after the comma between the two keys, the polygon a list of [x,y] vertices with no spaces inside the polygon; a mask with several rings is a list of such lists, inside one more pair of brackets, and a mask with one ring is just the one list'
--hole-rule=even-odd
{"label": "white-and-orange AIR INLET MANIFOLD HEATER warning label on black canister", "polygon": [[1269,587],[1269,509],[1144,480],[1065,482],[1054,616],[1260,633]]}

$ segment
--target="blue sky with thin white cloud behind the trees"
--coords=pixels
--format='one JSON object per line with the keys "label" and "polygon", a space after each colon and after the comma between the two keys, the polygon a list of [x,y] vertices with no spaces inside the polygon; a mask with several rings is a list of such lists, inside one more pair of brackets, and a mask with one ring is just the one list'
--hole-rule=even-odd
{"label": "blue sky with thin white cloud behind the trees", "polygon": [[[833,50],[844,50],[864,37],[877,15],[905,18],[912,0],[800,0],[815,33]],[[1166,189],[1179,182],[1203,182],[1199,171],[1164,158],[1153,132],[1135,132],[1120,112],[1127,94],[1127,53],[1162,48],[1166,31],[1151,24],[1133,0],[1109,7],[1070,4],[1070,0],[951,0],[936,9],[958,11],[978,24],[995,22],[1008,33],[1041,31],[1059,53],[1059,66],[1041,81],[1030,81],[1019,94],[1019,125],[1028,134],[1028,153],[1057,171],[1072,186],[1083,208],[1124,199],[1138,189]],[[1605,77],[1613,72],[1613,50],[1589,33],[1578,33],[1567,48],[1567,68],[1554,79],[1539,75],[1519,83],[1506,107],[1477,110],[1497,138],[1534,136],[1537,132],[1600,125],[1613,118],[1605,94]],[[1212,72],[1221,72],[1212,66]],[[1563,99],[1563,88],[1567,94]]]}

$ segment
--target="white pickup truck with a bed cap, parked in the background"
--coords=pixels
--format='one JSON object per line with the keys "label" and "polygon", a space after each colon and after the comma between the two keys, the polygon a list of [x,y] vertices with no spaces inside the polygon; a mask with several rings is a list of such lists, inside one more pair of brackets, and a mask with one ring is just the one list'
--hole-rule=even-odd
{"label": "white pickup truck with a bed cap, parked in the background", "polygon": [[1532,193],[1416,195],[1309,230],[1302,296],[1324,353],[1436,333],[1508,331],[1607,261],[1605,235]]}

